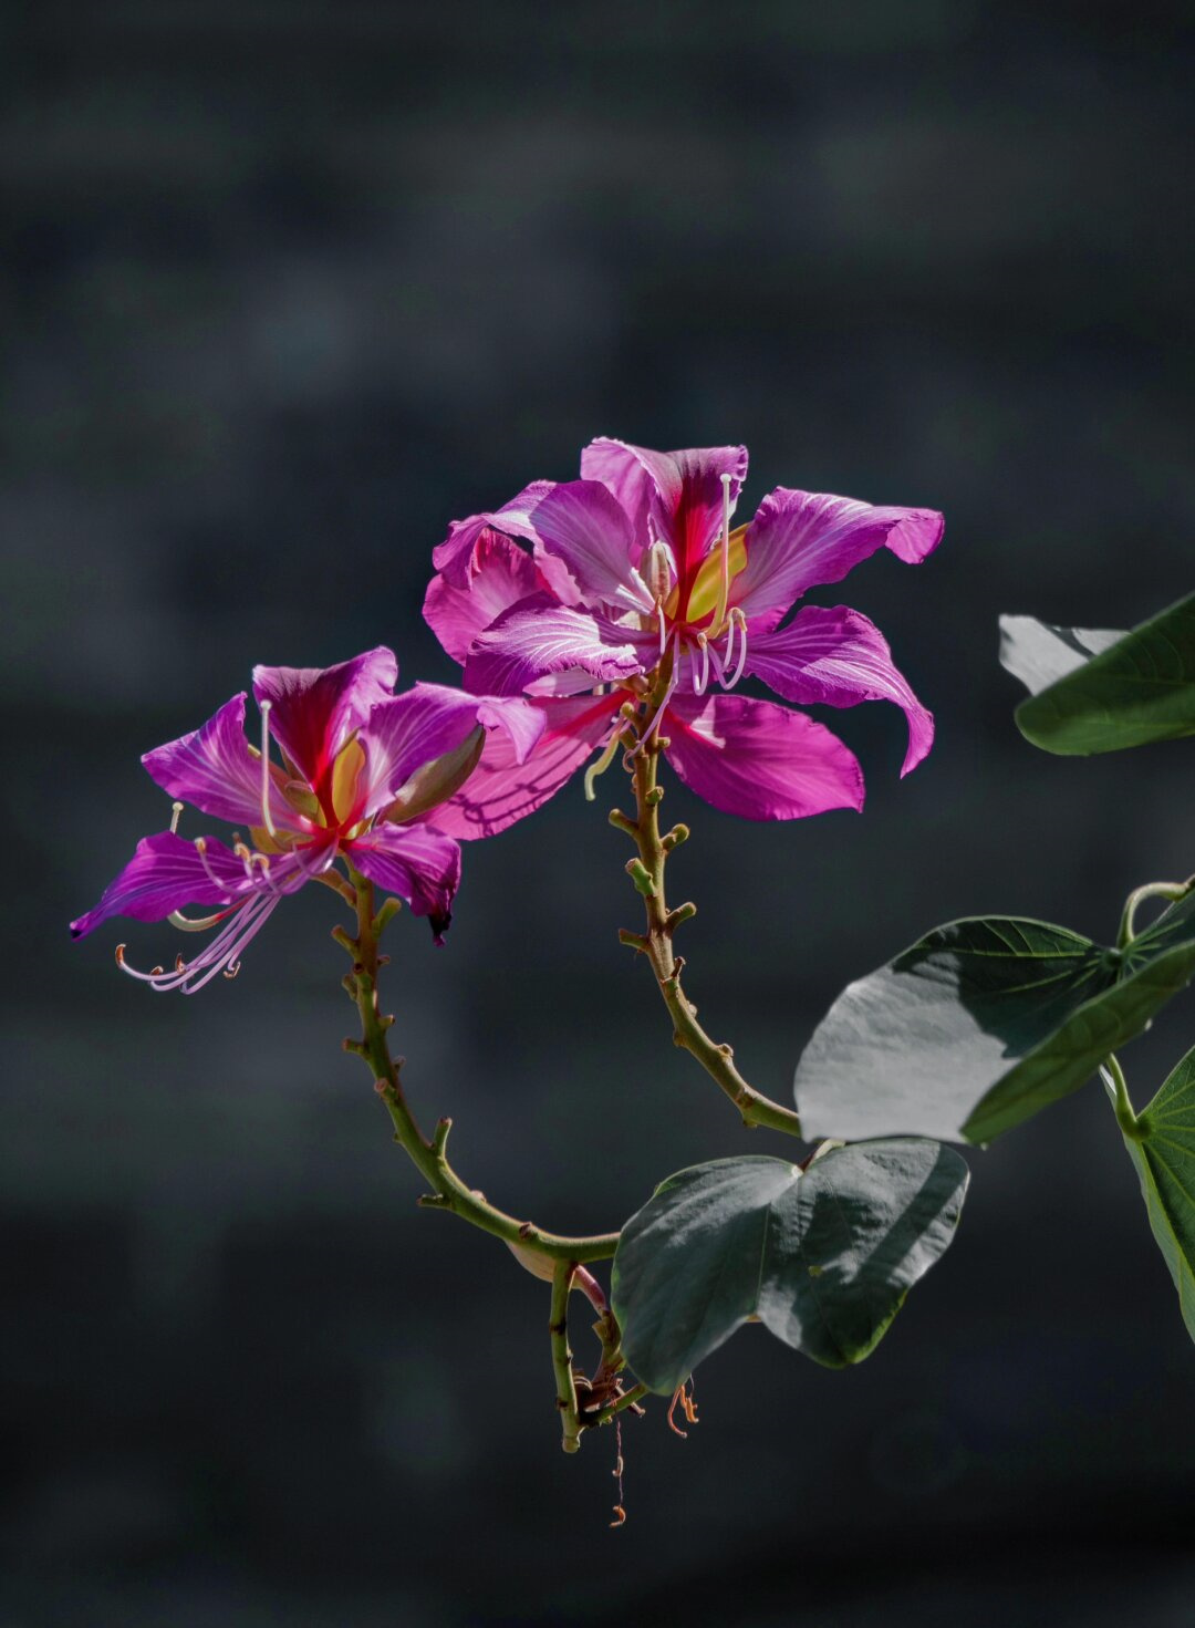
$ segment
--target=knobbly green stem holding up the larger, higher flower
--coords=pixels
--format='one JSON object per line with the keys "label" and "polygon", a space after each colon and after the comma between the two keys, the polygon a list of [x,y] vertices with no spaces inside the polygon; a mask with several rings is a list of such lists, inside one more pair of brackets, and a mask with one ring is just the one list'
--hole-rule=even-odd
{"label": "knobbly green stem holding up the larger, higher flower", "polygon": [[[656,705],[658,700],[653,697],[648,702],[648,713],[654,711]],[[625,830],[638,848],[638,860],[632,860],[627,871],[638,892],[643,894],[648,918],[645,936],[624,933],[622,941],[632,944],[651,962],[651,970],[659,983],[659,993],[664,996],[664,1006],[668,1006],[672,1019],[674,1042],[697,1058],[718,1089],[739,1110],[742,1123],[747,1127],[767,1125],[768,1130],[799,1136],[801,1120],[796,1112],[783,1107],[780,1102],[773,1102],[772,1097],[765,1097],[747,1084],[734,1066],[731,1047],[718,1045],[710,1039],[697,1021],[697,1008],[681,988],[684,959],[672,951],[672,934],[682,921],[697,913],[697,907],[681,905],[677,910],[669,910],[664,899],[664,863],[672,848],[679,847],[689,837],[689,830],[684,825],[676,825],[666,835],[659,835],[656,811],[664,794],[663,786],[656,783],[659,751],[661,742],[658,734],[650,742],[640,744],[635,749],[637,819],[630,821],[617,809],[611,814],[611,824],[617,825],[619,830]]]}

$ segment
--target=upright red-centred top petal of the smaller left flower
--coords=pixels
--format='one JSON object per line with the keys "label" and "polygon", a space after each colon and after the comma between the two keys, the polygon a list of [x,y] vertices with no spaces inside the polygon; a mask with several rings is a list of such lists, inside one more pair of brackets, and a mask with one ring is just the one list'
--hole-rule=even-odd
{"label": "upright red-centred top petal of the smaller left flower", "polygon": [[319,791],[340,747],[397,677],[394,651],[379,645],[334,667],[254,667],[252,690],[259,707],[270,702],[270,733]]}

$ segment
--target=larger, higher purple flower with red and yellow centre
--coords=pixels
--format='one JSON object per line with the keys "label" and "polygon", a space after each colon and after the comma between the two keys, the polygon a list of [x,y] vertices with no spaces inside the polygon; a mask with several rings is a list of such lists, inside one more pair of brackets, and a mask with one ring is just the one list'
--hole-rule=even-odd
{"label": "larger, higher purple flower with red and yellow centre", "polygon": [[619,708],[648,695],[645,737],[666,720],[669,762],[716,807],[747,819],[861,807],[853,754],[804,713],[729,694],[751,676],[803,705],[895,702],[908,721],[902,773],[920,764],[933,718],[879,628],[845,606],[781,624],[806,589],[881,547],[923,560],[941,514],[777,487],[731,529],[746,470],[742,446],[653,453],[602,438],[581,453],[580,480],[537,480],[451,527],[423,614],[466,689],[536,697],[547,728],[524,765],[484,765],[444,829],[484,829],[503,798],[542,801],[604,747],[591,790],[617,751]]}

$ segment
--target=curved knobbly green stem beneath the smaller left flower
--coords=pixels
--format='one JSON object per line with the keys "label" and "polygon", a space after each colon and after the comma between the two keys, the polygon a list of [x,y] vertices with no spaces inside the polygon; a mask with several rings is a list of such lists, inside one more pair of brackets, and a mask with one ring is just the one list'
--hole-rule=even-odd
{"label": "curved knobbly green stem beneath the smaller left flower", "polygon": [[506,1214],[487,1203],[484,1193],[462,1182],[448,1162],[448,1133],[453,1127],[449,1118],[441,1118],[436,1123],[431,1140],[418,1128],[399,1083],[402,1058],[392,1058],[389,1050],[387,1031],[394,1019],[383,1016],[378,1009],[378,970],[384,964],[384,957],[378,954],[378,938],[389,918],[387,905],[384,904],[374,917],[373,884],[357,871],[350,874],[357,904],[357,938],[350,938],[344,928],[337,928],[332,934],[353,957],[353,970],[345,977],[345,988],[355,1000],[361,1017],[361,1039],[345,1040],[345,1048],[357,1052],[368,1065],[374,1089],[391,1115],[394,1140],[401,1143],[431,1188],[420,1198],[420,1203],[448,1210],[506,1244],[545,1255],[549,1260],[567,1262],[570,1273],[580,1262],[609,1260],[619,1245],[617,1232],[562,1237],[532,1226],[531,1221],[519,1221],[516,1216]]}

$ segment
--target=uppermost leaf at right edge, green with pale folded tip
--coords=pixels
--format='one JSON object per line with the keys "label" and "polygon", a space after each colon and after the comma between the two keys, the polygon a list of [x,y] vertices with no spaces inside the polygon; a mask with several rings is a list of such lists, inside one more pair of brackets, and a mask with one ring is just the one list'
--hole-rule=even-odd
{"label": "uppermost leaf at right edge, green with pale folded tip", "polygon": [[1016,721],[1034,746],[1086,757],[1195,734],[1195,594],[1118,637],[1032,617],[1000,630],[1000,659],[1031,692]]}

